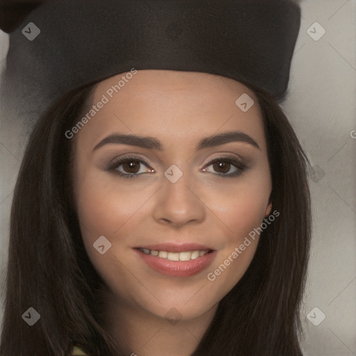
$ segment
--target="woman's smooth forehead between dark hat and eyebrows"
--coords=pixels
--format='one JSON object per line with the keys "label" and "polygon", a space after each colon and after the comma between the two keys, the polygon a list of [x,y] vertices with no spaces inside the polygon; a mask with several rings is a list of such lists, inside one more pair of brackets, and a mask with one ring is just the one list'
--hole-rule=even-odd
{"label": "woman's smooth forehead between dark hat and eyebrows", "polygon": [[[160,140],[194,142],[218,131],[240,130],[264,146],[261,113],[254,93],[238,81],[202,72],[138,70],[100,82],[91,105],[100,105],[81,135],[97,141],[110,133],[144,133]],[[241,95],[254,104],[243,112]],[[90,106],[91,108],[91,106]]]}

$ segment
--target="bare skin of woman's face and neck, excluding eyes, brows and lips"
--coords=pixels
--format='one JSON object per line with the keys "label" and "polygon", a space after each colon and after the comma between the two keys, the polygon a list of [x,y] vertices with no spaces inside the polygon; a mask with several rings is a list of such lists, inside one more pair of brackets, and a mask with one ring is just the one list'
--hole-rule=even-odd
{"label": "bare skin of woman's face and neck, excluding eyes, brows and lips", "polygon": [[[92,104],[121,76],[99,83]],[[247,112],[236,106],[243,93],[254,100]],[[108,97],[108,95],[106,95]],[[232,79],[200,72],[139,70],[76,133],[74,199],[83,242],[90,261],[108,287],[105,326],[127,349],[127,355],[190,355],[216,312],[218,302],[247,270],[258,235],[216,280],[213,272],[259,227],[271,211],[272,188],[266,139],[257,99]],[[259,145],[230,142],[195,151],[202,138],[241,131]],[[151,136],[163,150],[111,143],[94,147],[113,133]],[[125,179],[124,165],[112,171],[115,157],[134,154],[141,175]],[[248,169],[236,177],[217,173],[210,162],[241,158]],[[183,172],[174,184],[163,173],[175,164]],[[137,166],[136,166],[137,167]],[[150,169],[154,172],[149,172]],[[93,243],[106,236],[111,248],[99,254]],[[133,250],[163,242],[195,242],[217,250],[211,265],[191,277],[170,277],[149,268]],[[179,321],[165,314],[175,308]]]}

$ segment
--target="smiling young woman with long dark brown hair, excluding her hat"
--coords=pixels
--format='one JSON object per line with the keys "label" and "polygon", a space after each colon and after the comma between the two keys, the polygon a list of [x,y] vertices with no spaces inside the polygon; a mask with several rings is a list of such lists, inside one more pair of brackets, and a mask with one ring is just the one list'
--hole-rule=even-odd
{"label": "smiling young woman with long dark brown hair, excluding her hat", "polygon": [[[218,17],[208,8],[202,29]],[[35,124],[1,355],[302,355],[310,204],[307,159],[276,100],[289,67],[268,91],[227,62],[222,75],[179,60],[72,85]]]}

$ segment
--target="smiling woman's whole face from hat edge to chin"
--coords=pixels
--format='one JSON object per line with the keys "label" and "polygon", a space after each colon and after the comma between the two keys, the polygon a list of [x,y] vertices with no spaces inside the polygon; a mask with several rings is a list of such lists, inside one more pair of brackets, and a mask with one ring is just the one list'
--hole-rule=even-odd
{"label": "smiling woman's whole face from hat edge to chin", "polygon": [[118,305],[202,316],[247,270],[271,209],[256,97],[221,76],[139,70],[91,104],[73,172],[90,261]]}

